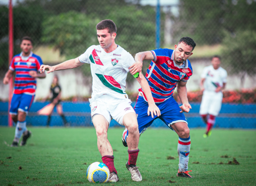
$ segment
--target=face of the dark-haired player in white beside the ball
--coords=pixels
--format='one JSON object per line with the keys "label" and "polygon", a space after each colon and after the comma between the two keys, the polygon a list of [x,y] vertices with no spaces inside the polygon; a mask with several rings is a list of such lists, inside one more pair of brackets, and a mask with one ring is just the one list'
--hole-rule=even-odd
{"label": "face of the dark-haired player in white beside the ball", "polygon": [[97,37],[101,48],[107,49],[115,42],[116,33],[111,35],[108,29],[105,28],[103,30],[97,30]]}

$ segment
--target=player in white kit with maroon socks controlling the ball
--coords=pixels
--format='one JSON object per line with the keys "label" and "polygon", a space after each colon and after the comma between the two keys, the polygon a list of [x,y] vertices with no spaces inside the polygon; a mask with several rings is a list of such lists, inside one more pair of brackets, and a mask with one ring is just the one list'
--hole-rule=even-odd
{"label": "player in white kit with maroon socks controlling the ball", "polygon": [[[141,181],[142,176],[136,166],[138,157],[139,129],[137,116],[131,106],[131,100],[125,93],[125,80],[129,67],[135,62],[132,55],[115,43],[116,25],[111,20],[103,20],[96,26],[100,45],[92,45],[78,58],[60,63],[56,66],[42,65],[41,71],[47,73],[55,70],[65,70],[90,63],[92,74],[92,98],[90,101],[92,123],[98,138],[98,149],[102,161],[109,168],[109,182],[117,182],[118,176],[114,166],[113,149],[107,138],[107,131],[111,117],[119,124],[128,128],[131,138],[127,141],[129,160],[127,169],[131,172],[133,181]],[[159,116],[160,110],[156,106],[145,77],[139,74],[137,78],[147,94],[148,115]]]}

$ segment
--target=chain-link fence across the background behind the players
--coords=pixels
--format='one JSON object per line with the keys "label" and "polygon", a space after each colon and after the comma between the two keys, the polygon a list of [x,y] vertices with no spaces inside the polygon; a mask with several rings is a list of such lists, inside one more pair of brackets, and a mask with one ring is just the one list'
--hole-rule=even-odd
{"label": "chain-link fence across the background behind the players", "polygon": [[[145,4],[147,2],[148,4]],[[155,49],[156,38],[156,6],[150,3],[156,1],[135,0],[24,0],[13,6],[14,54],[20,53],[20,39],[30,36],[34,40],[33,52],[40,55],[45,64],[57,64],[67,59],[76,58],[87,47],[97,45],[95,26],[100,20],[111,19],[117,26],[116,43],[125,48],[133,56],[140,51]],[[222,57],[221,66],[228,72],[228,83],[224,92],[225,104],[239,104],[234,114],[239,119],[245,117],[247,122],[255,127],[255,71],[256,66],[256,1],[255,0],[180,0],[169,1],[170,4],[161,6],[161,47],[174,48],[181,37],[189,36],[197,46],[190,57],[193,76],[187,83],[188,97],[195,105],[201,102],[202,92],[199,91],[201,74],[205,66],[211,64],[213,55]],[[1,3],[1,1],[0,1]],[[9,86],[3,85],[3,77],[8,70],[8,13],[7,5],[0,5],[0,99],[2,112],[0,121],[6,124],[6,101],[9,97]],[[143,64],[143,74],[149,61]],[[90,65],[84,64],[75,70],[54,72],[59,76],[62,87],[62,100],[87,101],[91,95]],[[37,81],[35,108],[29,115],[36,115],[42,99],[49,93],[53,74]],[[126,92],[134,101],[137,96],[138,83],[129,74],[127,76]],[[178,98],[177,94],[174,98]],[[40,103],[40,104],[39,104]],[[254,106],[254,112],[248,114],[244,104]],[[67,104],[67,107],[65,106]],[[80,103],[79,103],[80,104]],[[76,107],[76,106],[74,106]],[[251,106],[250,106],[251,107]],[[195,106],[197,108],[197,106]],[[72,104],[63,103],[63,109],[73,125],[88,123],[90,120],[77,119],[84,117],[79,109],[72,110]],[[88,111],[90,112],[90,110]],[[227,110],[221,111],[223,114]],[[87,111],[86,111],[87,113]],[[198,117],[198,109],[191,110],[191,117]],[[188,115],[188,117],[190,117]],[[58,116],[56,116],[58,118]],[[5,118],[5,119],[3,119]],[[73,119],[71,119],[73,118]],[[227,118],[230,118],[227,115]],[[234,117],[233,117],[234,119]],[[236,122],[239,119],[232,120]],[[37,119],[34,123],[46,120]],[[197,120],[194,123],[198,123]],[[33,123],[33,124],[34,124]],[[43,125],[44,122],[41,122]],[[58,123],[58,122],[57,122]],[[61,123],[61,120],[60,120]],[[37,124],[35,124],[37,125]],[[80,125],[80,124],[79,124]],[[82,125],[82,124],[81,124]],[[201,126],[195,125],[195,126]]]}

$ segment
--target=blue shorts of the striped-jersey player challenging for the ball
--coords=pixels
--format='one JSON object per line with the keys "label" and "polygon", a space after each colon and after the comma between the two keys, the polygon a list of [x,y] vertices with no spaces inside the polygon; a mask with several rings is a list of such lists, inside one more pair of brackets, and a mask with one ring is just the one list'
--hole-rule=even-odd
{"label": "blue shorts of the striped-jersey player challenging for the ball", "polygon": [[147,128],[154,122],[155,119],[161,119],[169,128],[172,129],[171,125],[178,122],[187,123],[187,119],[178,103],[173,99],[173,97],[167,99],[163,103],[156,103],[156,106],[161,111],[161,116],[154,118],[151,114],[148,116],[148,102],[146,102],[142,96],[138,96],[137,102],[134,106],[134,110],[138,115],[138,125],[140,134],[147,130]]}

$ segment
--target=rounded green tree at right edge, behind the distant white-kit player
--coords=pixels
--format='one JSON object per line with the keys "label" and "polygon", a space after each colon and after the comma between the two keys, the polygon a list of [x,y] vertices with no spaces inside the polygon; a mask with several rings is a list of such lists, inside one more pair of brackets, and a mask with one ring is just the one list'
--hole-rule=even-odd
{"label": "rounded green tree at right edge, behind the distant white-kit player", "polygon": [[222,58],[230,74],[241,76],[242,88],[245,75],[255,76],[256,31],[240,30],[236,35],[226,33],[223,39]]}

